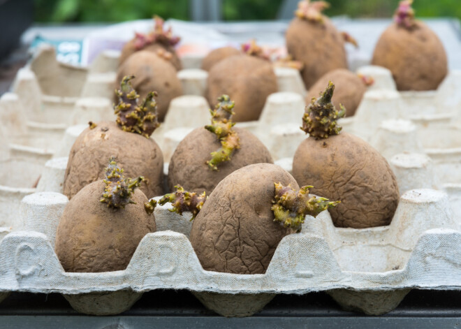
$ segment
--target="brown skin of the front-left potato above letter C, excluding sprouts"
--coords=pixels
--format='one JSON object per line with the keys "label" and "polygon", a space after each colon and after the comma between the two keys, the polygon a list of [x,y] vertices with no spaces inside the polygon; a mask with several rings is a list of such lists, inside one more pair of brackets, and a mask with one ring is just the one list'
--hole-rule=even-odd
{"label": "brown skin of the front-left potato above letter C, excluding sprouts", "polygon": [[147,214],[147,198],[136,189],[123,209],[112,209],[99,199],[104,182],[83,188],[64,208],[54,250],[66,272],[124,270],[142,237],[155,232],[154,214]]}

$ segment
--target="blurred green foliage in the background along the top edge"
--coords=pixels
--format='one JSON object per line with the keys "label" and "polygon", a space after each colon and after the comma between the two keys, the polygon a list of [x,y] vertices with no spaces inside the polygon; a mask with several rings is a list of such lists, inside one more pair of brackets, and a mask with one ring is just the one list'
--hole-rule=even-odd
{"label": "blurred green foliage in the background along the top edge", "polygon": [[[189,20],[189,0],[34,0],[36,22],[122,22],[161,17]],[[390,17],[399,0],[330,0],[329,16]],[[281,0],[222,0],[224,20],[275,20]],[[461,18],[461,0],[415,0],[418,17]]]}

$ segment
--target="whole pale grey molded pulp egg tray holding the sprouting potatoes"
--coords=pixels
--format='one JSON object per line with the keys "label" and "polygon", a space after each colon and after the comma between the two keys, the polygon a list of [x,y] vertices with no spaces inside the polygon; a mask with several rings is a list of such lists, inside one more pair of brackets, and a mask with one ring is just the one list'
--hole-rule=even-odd
{"label": "whole pale grey molded pulp egg tray holding the sprouting potatoes", "polygon": [[[372,143],[395,171],[402,196],[390,226],[335,228],[323,212],[307,218],[302,233],[284,237],[264,275],[234,275],[203,270],[188,240],[191,215],[180,217],[165,205],[155,210],[158,232],[142,239],[126,270],[64,272],[54,235],[68,202],[61,194],[66,156],[89,120],[113,119],[117,61],[105,52],[91,68],[73,68],[43,47],[18,73],[14,94],[0,98],[9,146],[0,149],[6,154],[1,298],[10,291],[58,292],[79,312],[103,315],[124,312],[144,291],[188,289],[219,314],[249,316],[277,293],[327,291],[346,309],[383,314],[411,288],[461,290],[461,73],[452,71],[434,92],[397,92],[390,72],[376,66],[359,69],[375,83],[356,115],[341,124]],[[210,120],[206,72],[178,75],[186,95],[171,102],[153,136],[167,162],[186,133]],[[306,138],[299,129],[305,91],[297,71],[279,70],[277,79],[280,92],[268,97],[258,122],[237,125],[254,132],[290,171]]]}

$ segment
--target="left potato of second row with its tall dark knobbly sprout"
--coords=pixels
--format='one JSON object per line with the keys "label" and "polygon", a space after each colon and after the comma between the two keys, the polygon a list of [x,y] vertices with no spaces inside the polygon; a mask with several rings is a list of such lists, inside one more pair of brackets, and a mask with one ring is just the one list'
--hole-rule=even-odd
{"label": "left potato of second row with its tall dark knobbly sprout", "polygon": [[126,175],[142,175],[140,190],[148,198],[163,194],[163,154],[149,136],[159,126],[156,118],[155,92],[143,101],[124,77],[117,91],[117,122],[90,122],[75,140],[69,154],[64,177],[64,194],[72,199],[87,184],[101,180],[107,159],[115,156]]}

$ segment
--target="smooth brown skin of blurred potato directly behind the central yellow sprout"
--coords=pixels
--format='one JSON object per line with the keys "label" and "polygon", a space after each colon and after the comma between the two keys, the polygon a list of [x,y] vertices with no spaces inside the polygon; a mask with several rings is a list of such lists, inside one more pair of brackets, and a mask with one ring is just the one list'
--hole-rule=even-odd
{"label": "smooth brown skin of blurred potato directly behind the central yellow sprout", "polygon": [[212,108],[222,94],[235,101],[234,122],[257,120],[265,99],[278,89],[270,62],[247,54],[227,57],[212,66],[207,86]]}

